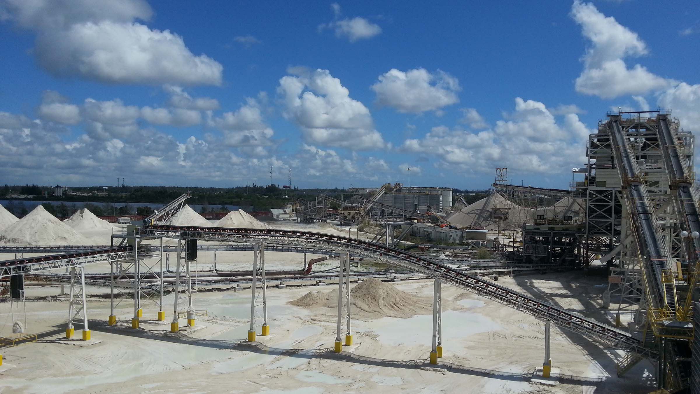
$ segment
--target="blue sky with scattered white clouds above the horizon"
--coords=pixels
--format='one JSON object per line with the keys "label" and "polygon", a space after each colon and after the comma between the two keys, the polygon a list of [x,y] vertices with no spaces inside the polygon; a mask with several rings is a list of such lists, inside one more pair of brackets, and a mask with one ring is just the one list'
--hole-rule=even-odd
{"label": "blue sky with scattered white clouds above the horizon", "polygon": [[0,181],[566,187],[612,107],[700,127],[698,7],[0,0]]}

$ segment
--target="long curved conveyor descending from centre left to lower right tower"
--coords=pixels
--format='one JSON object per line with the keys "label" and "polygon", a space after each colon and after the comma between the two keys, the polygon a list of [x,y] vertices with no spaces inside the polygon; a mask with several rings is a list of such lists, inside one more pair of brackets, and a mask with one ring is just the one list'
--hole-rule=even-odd
{"label": "long curved conveyor descending from centre left to lower right tower", "polygon": [[610,327],[596,320],[584,318],[581,315],[566,311],[566,309],[547,304],[533,297],[497,285],[489,280],[469,275],[446,264],[431,261],[403,250],[371,243],[365,240],[333,236],[325,233],[313,233],[297,230],[275,229],[230,229],[221,227],[192,227],[192,226],[144,226],[146,235],[197,238],[211,241],[237,240],[273,240],[276,243],[288,242],[293,244],[323,243],[332,245],[336,250],[356,252],[367,257],[379,257],[388,264],[426,274],[430,278],[455,285],[482,297],[498,301],[518,311],[548,320],[566,330],[582,334],[590,339],[608,342],[629,351],[634,351],[645,358],[655,360],[658,354],[645,348],[641,341],[633,338],[627,332]]}

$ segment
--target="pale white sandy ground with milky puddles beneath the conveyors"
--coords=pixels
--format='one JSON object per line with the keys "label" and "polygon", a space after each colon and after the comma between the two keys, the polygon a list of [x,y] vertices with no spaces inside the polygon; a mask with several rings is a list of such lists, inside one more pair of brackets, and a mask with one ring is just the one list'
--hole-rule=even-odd
{"label": "pale white sandy ground with milky puddles beneath the conveyors", "polygon": [[[273,227],[298,228],[290,222]],[[322,225],[313,231],[339,231]],[[305,227],[305,228],[309,228]],[[351,235],[355,235],[351,230]],[[363,233],[359,234],[360,237]],[[98,237],[97,235],[95,236]],[[109,243],[109,236],[105,243]],[[7,257],[7,256],[5,256]],[[301,254],[270,252],[268,269],[300,269]],[[311,259],[311,255],[307,256]],[[211,254],[209,259],[211,259]],[[217,254],[218,266],[249,269],[252,252]],[[206,254],[199,269],[209,269]],[[219,268],[223,269],[223,268]],[[109,271],[90,267],[87,271]],[[610,321],[614,311],[600,309],[604,278],[582,273],[501,277],[499,283],[534,297]],[[394,283],[399,290],[432,297],[431,280]],[[193,303],[207,316],[190,333],[167,334],[174,296],[165,297],[165,324],[143,322],[132,330],[133,301],[118,303],[118,327],[106,327],[109,289],[88,287],[92,345],[66,344],[65,299],[44,301],[58,286],[27,286],[24,304],[0,303],[0,336],[11,336],[13,320],[27,322],[27,332],[41,340],[0,348],[0,393],[66,393],[76,390],[110,393],[638,393],[653,390],[652,366],[640,362],[623,378],[615,374],[621,356],[570,332],[552,327],[552,364],[566,379],[559,386],[530,383],[542,364],[544,324],[494,301],[443,286],[444,357],[428,365],[432,316],[388,318],[361,315],[351,330],[354,345],[346,355],[332,353],[336,335],[335,308],[301,308],[288,301],[310,290],[334,286],[290,286],[267,289],[271,336],[256,348],[246,345],[251,292],[197,292]],[[67,286],[66,286],[67,291]],[[182,304],[181,304],[182,305]],[[158,304],[144,299],[144,319],[155,318]],[[184,311],[183,306],[181,311]],[[26,310],[26,315],[25,315]],[[421,313],[424,311],[421,310]],[[26,317],[25,317],[26,316]],[[624,315],[629,320],[629,314]],[[186,320],[180,320],[181,327]],[[76,330],[82,328],[80,325]],[[259,332],[258,328],[258,332]],[[80,332],[76,331],[76,337]],[[353,355],[360,358],[353,358]]]}

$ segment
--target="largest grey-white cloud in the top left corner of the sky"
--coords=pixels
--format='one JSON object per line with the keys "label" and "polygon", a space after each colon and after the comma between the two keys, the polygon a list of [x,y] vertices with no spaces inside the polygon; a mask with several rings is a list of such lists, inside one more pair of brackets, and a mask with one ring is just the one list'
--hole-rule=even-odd
{"label": "largest grey-white cloud in the top left corner of the sky", "polygon": [[104,83],[221,85],[223,67],[182,37],[150,29],[146,1],[6,0],[6,18],[36,32],[38,64],[55,76]]}

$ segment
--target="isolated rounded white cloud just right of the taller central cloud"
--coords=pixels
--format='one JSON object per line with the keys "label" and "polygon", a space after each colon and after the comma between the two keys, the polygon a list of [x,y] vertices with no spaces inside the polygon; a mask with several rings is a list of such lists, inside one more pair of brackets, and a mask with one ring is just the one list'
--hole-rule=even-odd
{"label": "isolated rounded white cloud just right of the taller central cloud", "polygon": [[459,101],[459,81],[440,70],[431,74],[422,68],[407,72],[391,69],[378,78],[379,82],[370,86],[377,93],[377,104],[399,112],[419,114]]}

